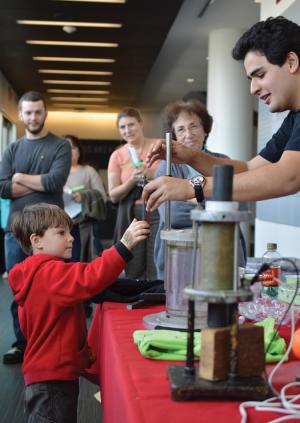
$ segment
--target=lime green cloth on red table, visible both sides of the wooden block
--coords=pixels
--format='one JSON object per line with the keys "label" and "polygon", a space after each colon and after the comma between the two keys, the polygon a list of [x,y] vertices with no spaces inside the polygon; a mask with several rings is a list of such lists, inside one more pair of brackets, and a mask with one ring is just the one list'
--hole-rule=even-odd
{"label": "lime green cloth on red table, visible both sides of the wooden block", "polygon": [[[275,333],[275,320],[268,317],[256,323],[264,328],[265,351]],[[186,360],[187,334],[174,330],[136,330],[134,343],[140,353],[154,360]],[[279,361],[286,350],[285,341],[278,334],[272,341],[266,354],[267,363]],[[194,359],[199,360],[201,351],[201,333],[194,333]]]}

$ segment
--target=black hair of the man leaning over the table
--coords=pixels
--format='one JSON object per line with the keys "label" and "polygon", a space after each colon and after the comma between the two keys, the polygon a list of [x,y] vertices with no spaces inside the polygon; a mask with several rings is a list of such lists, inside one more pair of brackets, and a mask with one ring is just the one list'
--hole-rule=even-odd
{"label": "black hair of the man leaning over the table", "polygon": [[249,51],[260,52],[278,66],[284,64],[291,51],[300,59],[300,26],[283,16],[257,22],[237,41],[232,57],[244,60]]}

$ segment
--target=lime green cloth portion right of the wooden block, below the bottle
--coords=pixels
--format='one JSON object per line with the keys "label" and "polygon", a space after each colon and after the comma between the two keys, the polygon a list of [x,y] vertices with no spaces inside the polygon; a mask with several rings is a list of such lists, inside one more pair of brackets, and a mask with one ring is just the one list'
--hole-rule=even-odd
{"label": "lime green cloth portion right of the wooden block, below the bottle", "polygon": [[[265,357],[266,363],[276,363],[277,361],[280,361],[286,352],[285,340],[281,338],[277,333],[269,347],[270,341],[276,332],[275,319],[273,317],[267,317],[261,322],[257,322],[255,324],[264,328],[265,351],[268,348]],[[286,357],[286,361],[287,360],[288,357]]]}

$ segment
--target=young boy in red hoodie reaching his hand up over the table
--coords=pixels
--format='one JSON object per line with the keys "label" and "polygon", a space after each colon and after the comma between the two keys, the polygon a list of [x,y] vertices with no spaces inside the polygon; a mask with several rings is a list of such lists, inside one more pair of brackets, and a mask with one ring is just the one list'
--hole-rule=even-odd
{"label": "young boy in red hoodie reaching his hand up over the table", "polygon": [[79,376],[92,362],[83,302],[113,283],[130,250],[149,235],[133,220],[120,242],[91,263],[65,262],[72,254],[72,220],[58,206],[39,203],[15,215],[12,231],[31,254],[9,273],[27,339],[23,374],[27,421],[74,423]]}

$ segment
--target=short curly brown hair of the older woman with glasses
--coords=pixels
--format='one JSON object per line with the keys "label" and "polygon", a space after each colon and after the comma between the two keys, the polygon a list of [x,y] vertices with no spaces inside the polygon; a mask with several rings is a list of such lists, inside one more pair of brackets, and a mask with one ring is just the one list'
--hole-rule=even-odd
{"label": "short curly brown hair of the older woman with glasses", "polygon": [[174,132],[174,122],[178,119],[178,116],[181,112],[194,113],[197,115],[201,120],[206,135],[210,133],[213,124],[213,118],[208,113],[204,104],[202,104],[199,100],[179,100],[169,103],[163,112],[164,126],[166,131]]}

